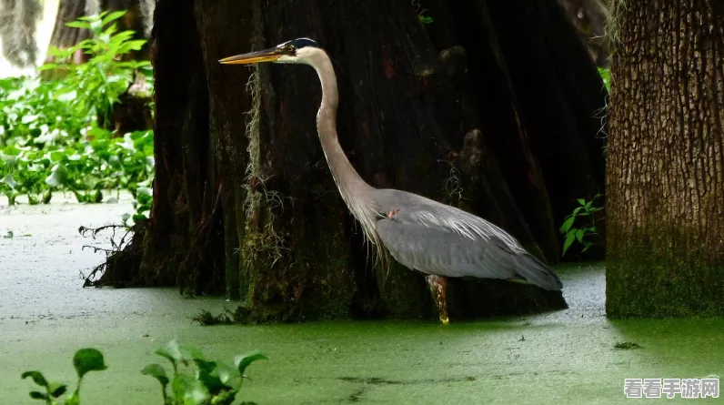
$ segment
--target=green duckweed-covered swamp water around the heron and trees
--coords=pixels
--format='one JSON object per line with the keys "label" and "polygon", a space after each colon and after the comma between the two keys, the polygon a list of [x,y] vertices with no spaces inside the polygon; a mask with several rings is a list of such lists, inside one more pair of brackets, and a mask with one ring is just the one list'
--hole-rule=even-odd
{"label": "green duckweed-covered swamp water around the heron and trees", "polygon": [[243,389],[259,404],[618,404],[634,403],[625,378],[724,375],[723,319],[610,321],[600,264],[559,268],[570,308],[538,316],[201,327],[190,320],[201,309],[232,303],[182,299],[176,289],[81,289],[75,271],[102,257],[81,251],[88,240],[78,225],[127,209],[0,208],[0,233],[15,235],[0,239],[3,403],[33,403],[24,370],[74,383],[71,357],[82,347],[101,349],[109,366],[86,376],[84,403],[160,403],[156,381],[138,371],[161,362],[153,349],[174,338],[228,361],[264,350],[270,360],[247,370]]}

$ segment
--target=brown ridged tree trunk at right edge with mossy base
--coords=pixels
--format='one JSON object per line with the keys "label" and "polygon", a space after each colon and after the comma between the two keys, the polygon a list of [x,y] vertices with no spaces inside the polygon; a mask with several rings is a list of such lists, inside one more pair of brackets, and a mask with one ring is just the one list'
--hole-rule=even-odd
{"label": "brown ridged tree trunk at right edge with mossy base", "polygon": [[615,21],[608,315],[722,315],[724,5],[628,2]]}

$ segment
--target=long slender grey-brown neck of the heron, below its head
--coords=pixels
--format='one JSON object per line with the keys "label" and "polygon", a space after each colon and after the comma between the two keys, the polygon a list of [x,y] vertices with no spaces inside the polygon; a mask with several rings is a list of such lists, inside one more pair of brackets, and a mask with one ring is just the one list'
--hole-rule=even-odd
{"label": "long slender grey-brown neck of the heron, below its head", "polygon": [[[315,58],[313,67],[317,70],[319,81],[322,84],[322,104],[317,113],[317,132],[322,143],[322,149],[327,157],[329,169],[339,188],[342,197],[349,205],[350,194],[364,195],[372,189],[357,171],[345,155],[337,139],[337,106],[339,96],[337,94],[337,76],[329,57],[322,51]],[[350,207],[351,208],[351,207]],[[357,212],[353,214],[357,217]]]}

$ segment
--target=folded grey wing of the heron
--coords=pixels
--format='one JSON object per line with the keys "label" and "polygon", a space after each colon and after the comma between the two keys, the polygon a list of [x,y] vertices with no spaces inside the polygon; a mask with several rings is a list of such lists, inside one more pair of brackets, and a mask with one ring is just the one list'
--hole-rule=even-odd
{"label": "folded grey wing of the heron", "polygon": [[407,268],[445,277],[525,278],[542,289],[561,289],[553,271],[485,219],[404,191],[377,193],[383,212],[399,210],[377,220],[377,235]]}

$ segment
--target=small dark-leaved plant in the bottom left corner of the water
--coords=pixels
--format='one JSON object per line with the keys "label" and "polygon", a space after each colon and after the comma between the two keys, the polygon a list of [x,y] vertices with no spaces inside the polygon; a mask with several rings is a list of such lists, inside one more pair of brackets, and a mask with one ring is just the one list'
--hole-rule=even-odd
{"label": "small dark-leaved plant in the bottom left corner of the water", "polygon": [[89,371],[106,370],[106,362],[103,359],[103,353],[96,349],[80,349],[73,356],[73,367],[78,375],[78,383],[75,391],[65,399],[64,402],[58,402],[58,399],[67,392],[68,387],[59,382],[48,382],[40,371],[25,371],[21,378],[25,380],[30,377],[35,384],[45,389],[45,392],[30,391],[30,398],[34,400],[42,400],[46,404],[56,405],[63,403],[65,405],[77,405],[80,403],[80,384],[83,377]]}

